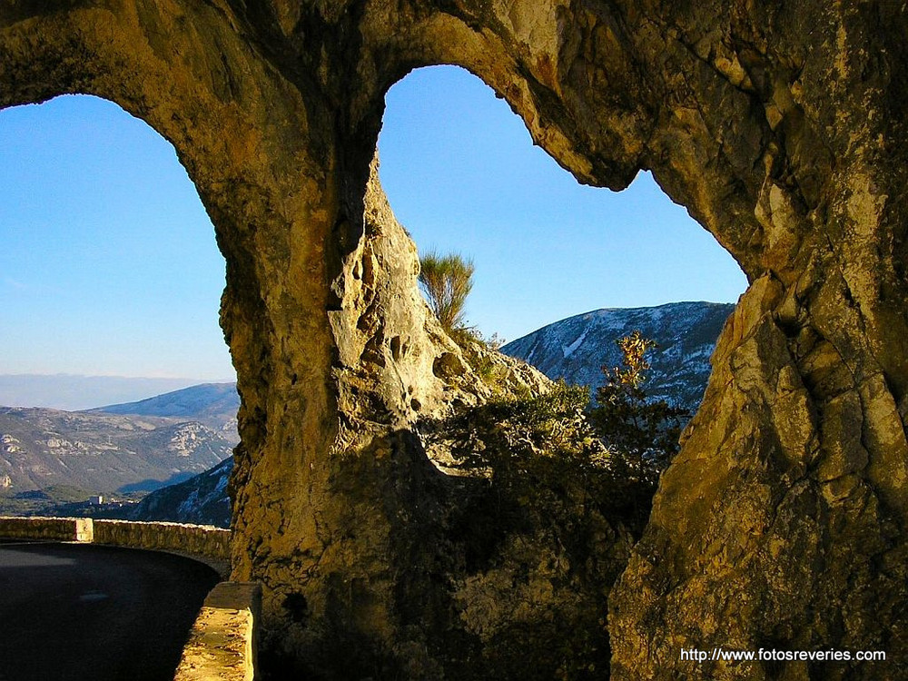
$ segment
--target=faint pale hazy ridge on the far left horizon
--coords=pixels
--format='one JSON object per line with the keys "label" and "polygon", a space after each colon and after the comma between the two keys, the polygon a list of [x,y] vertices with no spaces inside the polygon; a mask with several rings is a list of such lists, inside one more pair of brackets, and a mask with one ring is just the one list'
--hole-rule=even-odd
{"label": "faint pale hazy ridge on the far left horizon", "polygon": [[75,374],[0,375],[0,404],[6,407],[45,407],[87,410],[99,404],[141,400],[168,390],[199,383],[192,379],[149,379]]}

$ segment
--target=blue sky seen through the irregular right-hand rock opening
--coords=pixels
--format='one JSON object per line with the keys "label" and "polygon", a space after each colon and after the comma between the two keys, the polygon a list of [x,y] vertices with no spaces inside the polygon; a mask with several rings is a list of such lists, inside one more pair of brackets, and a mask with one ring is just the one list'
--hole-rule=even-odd
{"label": "blue sky seen through the irregular right-hand rock opening", "polygon": [[388,94],[380,177],[420,252],[476,265],[467,317],[513,341],[607,307],[733,302],[744,273],[652,175],[624,192],[583,186],[534,146],[508,104],[454,67]]}

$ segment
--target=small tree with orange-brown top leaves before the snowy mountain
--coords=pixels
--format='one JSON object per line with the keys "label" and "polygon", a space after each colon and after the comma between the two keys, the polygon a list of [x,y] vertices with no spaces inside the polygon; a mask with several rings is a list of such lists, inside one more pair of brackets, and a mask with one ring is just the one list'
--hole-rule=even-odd
{"label": "small tree with orange-brown top leaves before the snowy mountain", "polygon": [[589,419],[629,475],[655,483],[677,453],[681,428],[690,414],[665,400],[646,400],[642,388],[650,368],[646,353],[656,341],[634,331],[617,344],[624,366],[602,367],[607,380],[597,390]]}

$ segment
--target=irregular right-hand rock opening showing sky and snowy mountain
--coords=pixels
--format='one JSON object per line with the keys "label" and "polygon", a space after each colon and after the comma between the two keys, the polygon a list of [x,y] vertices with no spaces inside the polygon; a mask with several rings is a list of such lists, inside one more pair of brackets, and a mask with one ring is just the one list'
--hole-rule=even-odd
{"label": "irregular right-hand rock opening showing sky and snowy mountain", "polygon": [[623,192],[577,183],[457,66],[411,72],[386,104],[382,186],[420,253],[474,262],[467,317],[480,335],[511,341],[506,353],[549,378],[595,387],[619,359],[614,340],[642,327],[661,346],[653,397],[696,409],[746,280],[651,173]]}

